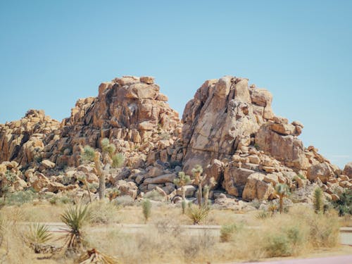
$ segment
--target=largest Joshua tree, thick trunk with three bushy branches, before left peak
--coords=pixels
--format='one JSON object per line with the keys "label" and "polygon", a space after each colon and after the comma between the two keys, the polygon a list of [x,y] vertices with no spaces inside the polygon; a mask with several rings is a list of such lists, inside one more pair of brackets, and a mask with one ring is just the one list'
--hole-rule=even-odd
{"label": "largest Joshua tree, thick trunk with three bushy branches, before left peak", "polygon": [[94,161],[96,172],[99,176],[99,199],[105,196],[105,177],[106,173],[113,168],[120,168],[125,162],[125,156],[115,153],[116,148],[108,139],[101,139],[101,152],[94,150],[91,146],[84,146],[82,158],[86,161]]}

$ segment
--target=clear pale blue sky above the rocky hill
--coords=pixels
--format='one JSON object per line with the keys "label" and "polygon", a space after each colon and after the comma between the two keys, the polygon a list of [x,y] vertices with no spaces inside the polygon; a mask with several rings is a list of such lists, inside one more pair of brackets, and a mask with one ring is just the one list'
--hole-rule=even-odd
{"label": "clear pale blue sky above the rocky hill", "polygon": [[0,123],[57,120],[101,82],[151,75],[182,116],[208,79],[247,77],[276,115],[352,161],[352,1],[0,0]]}

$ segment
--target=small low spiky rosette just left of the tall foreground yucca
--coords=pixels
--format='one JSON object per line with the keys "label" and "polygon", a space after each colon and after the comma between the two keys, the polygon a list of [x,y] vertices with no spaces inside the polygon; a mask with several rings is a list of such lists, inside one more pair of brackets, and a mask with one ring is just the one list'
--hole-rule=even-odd
{"label": "small low spiky rosette just left of the tall foreground yucca", "polygon": [[30,225],[30,230],[25,234],[25,239],[34,251],[40,244],[46,244],[52,238],[53,235],[50,233],[49,227],[40,223]]}

